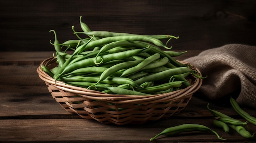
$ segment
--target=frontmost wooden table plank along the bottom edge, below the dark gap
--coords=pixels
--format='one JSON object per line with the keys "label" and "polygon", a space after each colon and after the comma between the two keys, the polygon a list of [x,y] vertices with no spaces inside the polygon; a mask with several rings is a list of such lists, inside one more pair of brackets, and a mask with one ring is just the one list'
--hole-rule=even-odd
{"label": "frontmost wooden table plank along the bottom edge, below the dark gap", "polygon": [[[94,120],[83,119],[30,119],[0,120],[1,141],[24,142],[150,142],[149,139],[165,128],[184,123],[203,124],[218,132],[225,142],[249,142],[237,132],[229,134],[216,128],[211,119],[168,119],[143,125],[105,125]],[[250,125],[250,127],[252,127]],[[256,131],[252,128],[252,132]],[[0,142],[1,142],[0,141]],[[159,136],[156,142],[220,142],[212,132],[188,132],[176,136]]]}

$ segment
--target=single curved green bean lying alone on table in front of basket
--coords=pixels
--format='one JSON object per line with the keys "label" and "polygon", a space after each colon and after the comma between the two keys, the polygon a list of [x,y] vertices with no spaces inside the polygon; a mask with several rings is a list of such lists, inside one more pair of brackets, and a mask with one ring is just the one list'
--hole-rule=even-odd
{"label": "single curved green bean lying alone on table in front of basket", "polygon": [[157,134],[156,136],[154,136],[153,138],[150,139],[150,141],[155,140],[158,136],[164,135],[164,136],[173,136],[182,132],[192,132],[192,131],[200,131],[200,132],[208,132],[211,131],[214,134],[217,135],[218,139],[221,140],[226,140],[226,139],[222,139],[222,137],[220,137],[220,135],[210,129],[209,127],[205,126],[205,125],[200,125],[200,124],[183,124],[183,125],[177,125],[174,127],[170,127],[170,128],[166,128],[165,130],[163,130],[161,133]]}

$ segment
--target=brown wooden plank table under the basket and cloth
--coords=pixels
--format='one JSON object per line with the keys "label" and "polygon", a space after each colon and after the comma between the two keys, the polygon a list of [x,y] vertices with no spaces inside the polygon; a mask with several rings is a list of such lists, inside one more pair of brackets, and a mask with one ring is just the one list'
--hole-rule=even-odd
{"label": "brown wooden plank table under the basket and cloth", "polygon": [[[217,139],[211,132],[189,132],[177,136],[160,136],[154,142],[254,142],[245,139],[234,130],[225,133],[213,125],[213,116],[207,103],[231,117],[245,121],[236,114],[229,103],[207,101],[195,93],[188,106],[169,119],[142,125],[106,125],[98,121],[81,119],[79,115],[66,112],[52,98],[36,68],[53,52],[1,52],[0,53],[0,142],[3,143],[135,143],[150,142],[149,139],[165,128],[184,123],[206,125],[216,130],[226,141]],[[200,51],[188,51],[182,60]],[[245,110],[256,117],[255,109]],[[251,132],[256,132],[249,124]]]}

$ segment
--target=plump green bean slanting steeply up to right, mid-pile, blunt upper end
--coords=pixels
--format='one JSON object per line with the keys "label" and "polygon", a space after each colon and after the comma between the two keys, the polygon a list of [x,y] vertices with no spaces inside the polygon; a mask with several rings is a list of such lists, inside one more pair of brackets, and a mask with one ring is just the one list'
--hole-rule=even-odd
{"label": "plump green bean slanting steeply up to right, mid-pile, blunt upper end", "polygon": [[141,68],[144,68],[146,65],[150,64],[151,62],[154,62],[155,60],[160,58],[160,54],[156,53],[146,59],[144,59],[142,62],[140,62],[139,64],[137,64],[136,66],[133,66],[131,68],[126,69],[121,77],[130,75],[132,73],[136,73],[137,71],[141,70]]}

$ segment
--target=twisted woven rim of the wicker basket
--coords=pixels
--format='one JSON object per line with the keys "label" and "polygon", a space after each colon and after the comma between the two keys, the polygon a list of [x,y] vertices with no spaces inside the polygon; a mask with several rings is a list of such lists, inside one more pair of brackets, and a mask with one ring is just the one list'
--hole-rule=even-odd
{"label": "twisted woven rim of the wicker basket", "polygon": [[[178,61],[182,64],[188,64],[184,61]],[[59,88],[61,90],[65,90],[67,92],[73,92],[78,95],[81,95],[82,97],[93,99],[93,100],[102,100],[102,101],[111,101],[112,103],[156,103],[159,101],[163,101],[164,99],[179,99],[181,97],[185,97],[188,95],[193,94],[196,92],[200,86],[202,85],[202,79],[195,77],[193,85],[181,89],[176,90],[173,92],[163,93],[163,94],[157,94],[157,95],[115,95],[115,94],[107,94],[100,91],[95,90],[88,90],[86,88],[67,85],[62,81],[55,81],[52,77],[50,77],[47,73],[45,73],[43,70],[41,70],[41,66],[47,66],[48,68],[54,68],[56,64],[56,59],[54,57],[49,57],[45,59],[43,62],[41,62],[40,66],[37,68],[37,73],[40,79],[47,82],[48,84],[51,84],[52,86],[55,86],[56,88]],[[55,66],[54,66],[55,65]],[[200,73],[200,70],[198,68],[195,68],[193,65],[191,65],[191,69],[197,71]]]}

